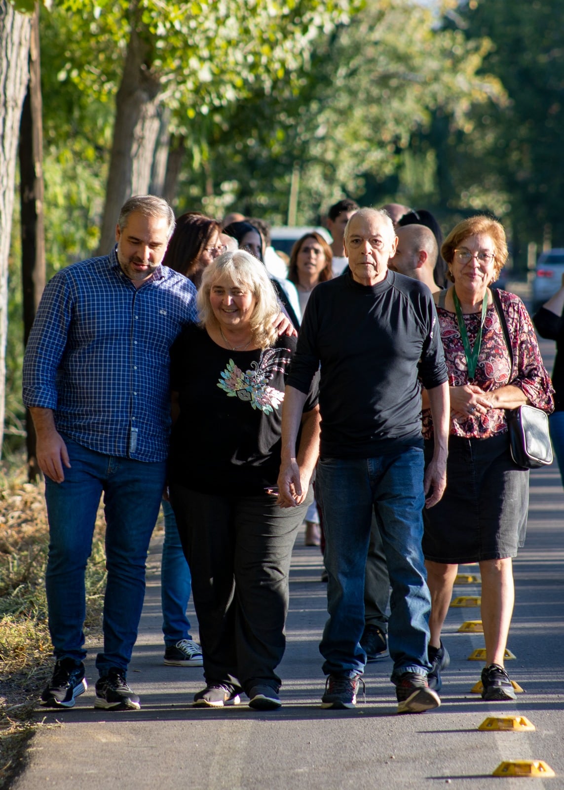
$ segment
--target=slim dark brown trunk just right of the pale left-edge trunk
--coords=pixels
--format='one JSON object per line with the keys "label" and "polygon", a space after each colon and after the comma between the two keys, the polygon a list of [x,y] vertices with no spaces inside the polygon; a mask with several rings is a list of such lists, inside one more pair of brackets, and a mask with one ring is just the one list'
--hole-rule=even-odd
{"label": "slim dark brown trunk just right of the pale left-edge trunk", "polygon": [[[29,44],[29,83],[20,126],[21,284],[24,308],[24,344],[27,344],[39,299],[45,288],[45,236],[43,232],[43,120],[41,63],[39,59],[39,6],[32,17]],[[26,412],[28,478],[37,480],[36,432]]]}

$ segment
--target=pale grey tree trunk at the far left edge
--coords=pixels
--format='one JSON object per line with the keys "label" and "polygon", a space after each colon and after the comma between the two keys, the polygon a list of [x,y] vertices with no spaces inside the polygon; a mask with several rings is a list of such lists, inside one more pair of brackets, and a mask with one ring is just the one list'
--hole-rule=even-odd
{"label": "pale grey tree trunk at the far left edge", "polygon": [[8,256],[21,105],[28,85],[31,17],[0,0],[0,451],[6,404]]}

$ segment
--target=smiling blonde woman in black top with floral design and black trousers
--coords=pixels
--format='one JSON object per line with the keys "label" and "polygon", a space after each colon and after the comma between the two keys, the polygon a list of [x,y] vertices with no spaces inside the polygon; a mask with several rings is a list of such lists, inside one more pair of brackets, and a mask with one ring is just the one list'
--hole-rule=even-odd
{"label": "smiling blonde woman in black top with floral design and black trousers", "polygon": [[[278,337],[276,293],[252,255],[226,252],[205,269],[200,325],[171,349],[171,505],[192,573],[206,687],[195,705],[280,707],[288,571],[313,500],[318,383],[303,412],[298,506],[277,503],[284,380],[295,337]],[[301,461],[299,459],[302,459]]]}

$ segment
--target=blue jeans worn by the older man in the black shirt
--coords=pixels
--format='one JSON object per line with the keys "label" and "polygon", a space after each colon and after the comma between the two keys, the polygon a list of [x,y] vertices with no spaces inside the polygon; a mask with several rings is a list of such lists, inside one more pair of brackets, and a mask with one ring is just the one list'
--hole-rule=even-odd
{"label": "blue jeans worn by the older man in the black shirt", "polygon": [[318,465],[329,573],[329,620],[319,646],[325,675],[363,672],[364,572],[372,513],[382,536],[392,586],[388,624],[392,681],[404,672],[426,675],[431,596],[421,550],[423,450],[374,458],[322,458]]}

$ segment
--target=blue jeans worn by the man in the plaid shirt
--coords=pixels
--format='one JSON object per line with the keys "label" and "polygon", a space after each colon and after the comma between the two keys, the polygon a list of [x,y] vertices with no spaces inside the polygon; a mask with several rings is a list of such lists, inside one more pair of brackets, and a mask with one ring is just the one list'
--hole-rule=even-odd
{"label": "blue jeans worn by the man in the plaid shirt", "polygon": [[100,675],[126,669],[145,596],[145,562],[163,495],[166,461],[146,463],[88,450],[63,436],[71,468],[65,480],[45,480],[49,558],[45,584],[55,656],[84,660],[85,568],[103,493],[107,586]]}

